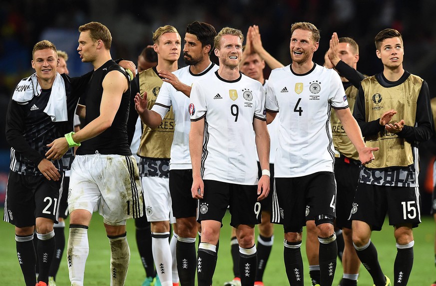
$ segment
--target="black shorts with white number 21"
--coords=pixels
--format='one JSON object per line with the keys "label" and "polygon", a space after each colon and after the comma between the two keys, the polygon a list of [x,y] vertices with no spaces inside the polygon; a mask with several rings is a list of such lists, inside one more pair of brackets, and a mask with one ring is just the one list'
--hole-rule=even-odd
{"label": "black shorts with white number 21", "polygon": [[16,227],[35,225],[37,217],[57,223],[63,172],[58,181],[43,175],[20,175],[9,170],[3,220]]}

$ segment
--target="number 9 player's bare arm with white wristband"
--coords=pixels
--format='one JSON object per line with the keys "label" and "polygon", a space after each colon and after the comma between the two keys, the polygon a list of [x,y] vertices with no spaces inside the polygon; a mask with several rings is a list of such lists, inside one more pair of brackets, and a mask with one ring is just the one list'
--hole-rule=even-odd
{"label": "number 9 player's bare arm with white wristband", "polygon": [[[192,128],[192,127],[191,127]],[[255,118],[253,128],[256,140],[256,149],[262,170],[270,169],[270,135],[266,127],[266,122]],[[270,192],[270,176],[262,174],[257,185],[258,201],[263,200]]]}

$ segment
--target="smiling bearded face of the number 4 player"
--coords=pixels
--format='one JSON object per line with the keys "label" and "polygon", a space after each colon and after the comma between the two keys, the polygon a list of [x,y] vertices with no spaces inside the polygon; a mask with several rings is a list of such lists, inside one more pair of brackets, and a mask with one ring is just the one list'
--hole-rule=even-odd
{"label": "smiling bearded face of the number 4 player", "polygon": [[298,64],[312,61],[313,53],[318,49],[318,45],[311,31],[296,29],[291,35],[289,44],[292,61]]}

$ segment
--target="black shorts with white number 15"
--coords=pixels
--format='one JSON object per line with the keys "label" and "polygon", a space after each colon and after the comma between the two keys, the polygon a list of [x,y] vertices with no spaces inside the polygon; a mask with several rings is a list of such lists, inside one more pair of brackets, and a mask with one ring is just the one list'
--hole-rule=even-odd
{"label": "black shorts with white number 15", "polygon": [[378,186],[359,183],[351,209],[351,220],[366,222],[372,230],[381,230],[386,214],[389,225],[421,223],[421,199],[418,187]]}

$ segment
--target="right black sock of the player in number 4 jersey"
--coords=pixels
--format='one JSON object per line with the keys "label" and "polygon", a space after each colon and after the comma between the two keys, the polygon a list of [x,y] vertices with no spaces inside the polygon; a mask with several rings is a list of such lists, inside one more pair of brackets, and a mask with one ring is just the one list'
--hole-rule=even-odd
{"label": "right black sock of the player in number 4 jersey", "polygon": [[320,273],[321,285],[332,285],[336,271],[336,256],[338,254],[338,245],[336,244],[336,235],[332,234],[327,238],[318,238],[320,241]]}

